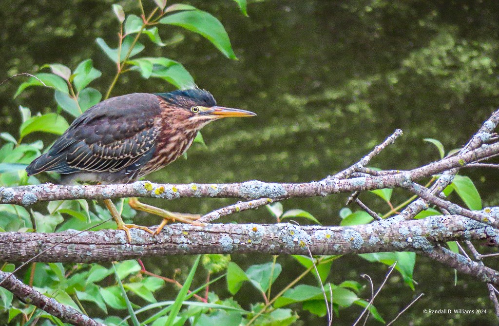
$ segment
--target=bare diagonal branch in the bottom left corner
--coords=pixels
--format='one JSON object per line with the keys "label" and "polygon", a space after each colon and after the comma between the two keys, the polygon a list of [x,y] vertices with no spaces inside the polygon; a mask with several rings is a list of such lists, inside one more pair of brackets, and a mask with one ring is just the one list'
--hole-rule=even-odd
{"label": "bare diagonal branch in the bottom left corner", "polygon": [[57,317],[64,323],[79,326],[104,326],[91,318],[81,314],[72,307],[58,303],[53,298],[48,298],[33,288],[17,280],[15,276],[0,271],[1,287],[10,291],[20,301],[33,305],[52,316]]}

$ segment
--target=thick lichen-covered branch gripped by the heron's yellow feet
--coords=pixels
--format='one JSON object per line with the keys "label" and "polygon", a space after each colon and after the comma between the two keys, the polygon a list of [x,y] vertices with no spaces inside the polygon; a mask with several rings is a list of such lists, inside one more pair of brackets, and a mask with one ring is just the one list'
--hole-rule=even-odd
{"label": "thick lichen-covered branch gripped by the heron's yellow feet", "polygon": [[[0,233],[0,261],[23,262],[44,249],[73,236],[61,233]],[[423,220],[375,221],[349,227],[296,226],[293,224],[173,224],[155,238],[132,230],[128,244],[122,231],[83,232],[39,255],[38,262],[102,262],[125,259],[208,253],[268,253],[345,255],[383,251],[432,253],[440,243],[454,240],[499,240],[499,230],[459,216],[433,216]],[[444,263],[451,266],[448,260]],[[452,264],[453,268],[456,264]],[[467,263],[469,265],[469,263]],[[482,274],[473,274],[480,271]],[[497,272],[486,267],[464,269],[499,285]],[[485,274],[484,274],[485,273]],[[492,280],[492,281],[491,281]]]}

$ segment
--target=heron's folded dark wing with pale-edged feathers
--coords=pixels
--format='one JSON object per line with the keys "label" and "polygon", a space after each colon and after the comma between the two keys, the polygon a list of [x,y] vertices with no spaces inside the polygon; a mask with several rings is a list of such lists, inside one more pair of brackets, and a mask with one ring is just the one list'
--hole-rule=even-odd
{"label": "heron's folded dark wing with pale-edged feathers", "polygon": [[73,121],[50,150],[26,169],[62,174],[80,171],[130,174],[156,149],[161,107],[156,95],[134,93],[105,100]]}

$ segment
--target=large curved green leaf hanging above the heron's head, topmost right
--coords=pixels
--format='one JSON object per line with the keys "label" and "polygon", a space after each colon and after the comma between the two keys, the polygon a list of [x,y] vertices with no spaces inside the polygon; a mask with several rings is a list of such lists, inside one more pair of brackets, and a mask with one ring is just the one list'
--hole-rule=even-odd
{"label": "large curved green leaf hanging above the heron's head, topmost right", "polygon": [[188,10],[173,13],[162,18],[162,24],[176,25],[201,34],[210,40],[224,55],[237,59],[224,25],[213,15],[201,10]]}

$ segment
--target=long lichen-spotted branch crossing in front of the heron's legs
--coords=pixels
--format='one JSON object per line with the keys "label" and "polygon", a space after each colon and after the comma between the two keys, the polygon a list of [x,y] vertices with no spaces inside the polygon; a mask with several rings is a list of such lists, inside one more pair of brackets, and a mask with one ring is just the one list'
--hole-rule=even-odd
{"label": "long lichen-spotted branch crossing in front of the heron's legs", "polygon": [[326,178],[309,183],[267,183],[248,181],[232,184],[154,184],[139,181],[121,185],[60,186],[53,184],[0,188],[0,204],[29,206],[39,201],[64,199],[107,199],[123,197],[181,197],[218,198],[291,198],[327,196],[334,193],[396,188],[413,181],[463,167],[468,163],[499,153],[499,143],[484,145],[456,157],[397,174],[358,177],[351,179]]}

